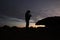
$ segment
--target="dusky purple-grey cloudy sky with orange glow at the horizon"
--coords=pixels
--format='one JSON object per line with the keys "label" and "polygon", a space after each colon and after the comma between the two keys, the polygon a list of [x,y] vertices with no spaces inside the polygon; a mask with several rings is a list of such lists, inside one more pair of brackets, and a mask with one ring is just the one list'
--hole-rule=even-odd
{"label": "dusky purple-grey cloudy sky with orange glow at the horizon", "polygon": [[25,12],[31,11],[30,26],[38,20],[60,16],[60,0],[0,0],[0,25],[25,27]]}

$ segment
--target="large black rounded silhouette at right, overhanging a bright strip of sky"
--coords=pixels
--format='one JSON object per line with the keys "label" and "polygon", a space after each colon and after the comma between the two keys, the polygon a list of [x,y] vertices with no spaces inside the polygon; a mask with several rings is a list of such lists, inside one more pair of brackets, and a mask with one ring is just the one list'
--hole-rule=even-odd
{"label": "large black rounded silhouette at right, overhanging a bright strip of sky", "polygon": [[45,25],[51,29],[60,29],[60,16],[44,18],[36,22],[36,25]]}

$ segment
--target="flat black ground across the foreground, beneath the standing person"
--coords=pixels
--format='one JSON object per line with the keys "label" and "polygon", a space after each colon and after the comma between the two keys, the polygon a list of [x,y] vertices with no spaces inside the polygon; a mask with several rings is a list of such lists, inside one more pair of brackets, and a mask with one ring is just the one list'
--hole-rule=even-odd
{"label": "flat black ground across the foreground, beneath the standing person", "polygon": [[54,34],[48,28],[0,27],[0,40],[58,40]]}

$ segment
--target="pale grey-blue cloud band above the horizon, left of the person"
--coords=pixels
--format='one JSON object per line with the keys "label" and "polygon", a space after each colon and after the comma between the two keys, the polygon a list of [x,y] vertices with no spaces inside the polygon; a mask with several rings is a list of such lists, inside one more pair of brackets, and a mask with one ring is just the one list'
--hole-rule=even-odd
{"label": "pale grey-blue cloud band above the horizon, left of the person", "polygon": [[5,15],[0,15],[0,24],[9,26],[18,26],[20,24],[24,25],[25,21],[23,19],[12,18]]}

